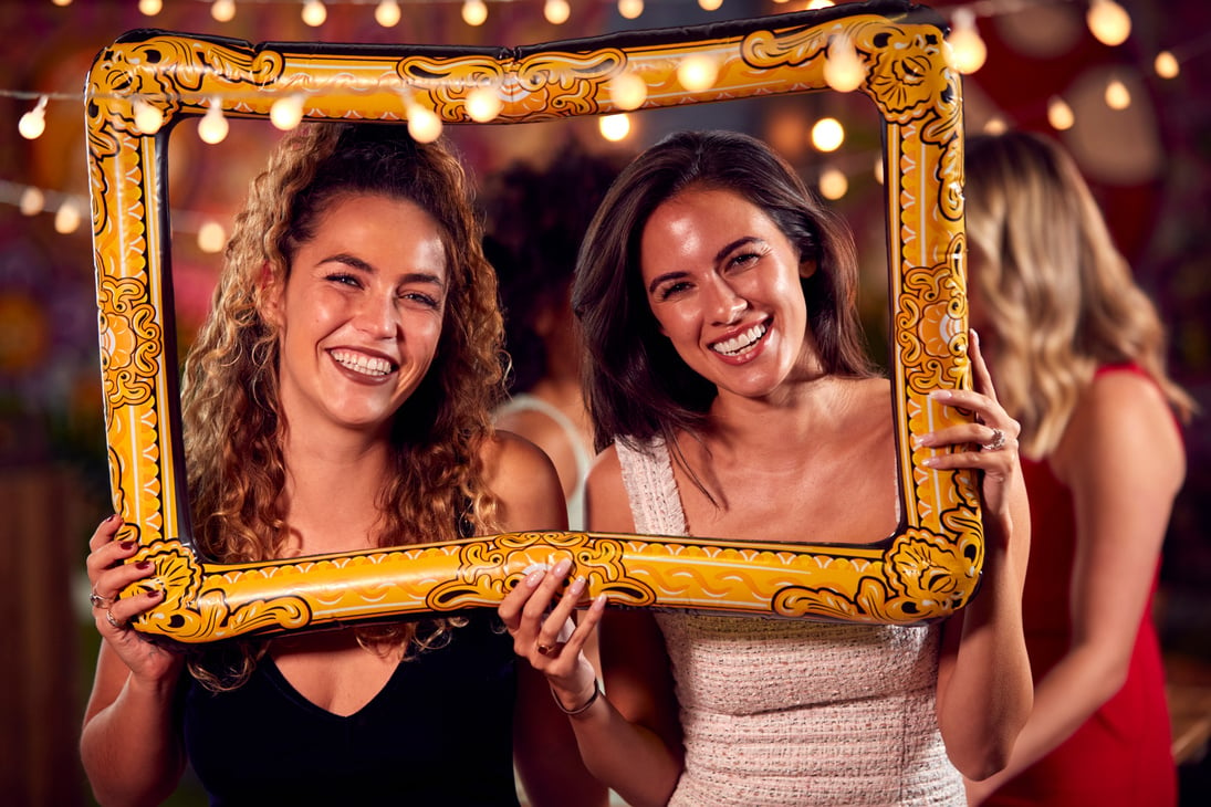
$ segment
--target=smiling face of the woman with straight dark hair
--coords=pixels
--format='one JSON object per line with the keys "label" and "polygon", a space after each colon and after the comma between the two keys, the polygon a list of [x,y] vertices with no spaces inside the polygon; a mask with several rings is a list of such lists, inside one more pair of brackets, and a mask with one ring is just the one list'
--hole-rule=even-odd
{"label": "smiling face of the woman with straight dark hair", "polygon": [[808,312],[800,279],[814,270],[756,204],[690,188],[660,204],[639,246],[643,286],[660,332],[721,394],[764,397],[799,364]]}

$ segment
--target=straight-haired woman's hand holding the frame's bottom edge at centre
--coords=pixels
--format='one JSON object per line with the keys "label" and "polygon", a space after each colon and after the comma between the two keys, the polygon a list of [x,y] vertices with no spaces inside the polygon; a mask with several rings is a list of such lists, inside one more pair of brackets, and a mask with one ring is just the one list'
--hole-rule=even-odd
{"label": "straight-haired woman's hand holding the frame's bottom edge at centre", "polygon": [[570,570],[572,560],[566,558],[549,569],[532,571],[498,609],[513,638],[513,652],[546,676],[564,710],[574,710],[593,696],[597,673],[581,651],[606,611],[603,594],[593,600],[579,624],[572,619],[585,592],[584,577],[572,581],[552,606]]}

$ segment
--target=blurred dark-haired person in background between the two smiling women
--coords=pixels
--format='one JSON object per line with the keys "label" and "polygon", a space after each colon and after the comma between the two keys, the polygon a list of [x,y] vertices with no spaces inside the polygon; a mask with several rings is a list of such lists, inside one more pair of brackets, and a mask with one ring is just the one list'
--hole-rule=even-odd
{"label": "blurred dark-haired person in background between the two smiling women", "polygon": [[580,240],[622,162],[569,140],[546,167],[515,162],[486,183],[484,252],[500,278],[510,398],[497,426],[543,449],[559,474],[568,525],[584,529],[592,425],[569,294]]}

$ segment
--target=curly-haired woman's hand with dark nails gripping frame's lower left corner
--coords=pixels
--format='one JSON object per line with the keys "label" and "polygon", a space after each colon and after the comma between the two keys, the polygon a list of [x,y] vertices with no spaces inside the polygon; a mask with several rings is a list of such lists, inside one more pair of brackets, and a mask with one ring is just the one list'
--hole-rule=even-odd
{"label": "curly-haired woman's hand with dark nails gripping frame's lower left corner", "polygon": [[154,590],[117,599],[117,594],[127,586],[150,577],[155,571],[148,560],[126,563],[138,553],[139,546],[133,540],[115,541],[121,529],[121,517],[111,515],[97,526],[88,540],[90,553],[85,566],[92,584],[92,618],[97,624],[97,633],[130,668],[132,675],[149,681],[161,680],[179,668],[182,658],[131,628],[131,619],[163,600],[163,592]]}

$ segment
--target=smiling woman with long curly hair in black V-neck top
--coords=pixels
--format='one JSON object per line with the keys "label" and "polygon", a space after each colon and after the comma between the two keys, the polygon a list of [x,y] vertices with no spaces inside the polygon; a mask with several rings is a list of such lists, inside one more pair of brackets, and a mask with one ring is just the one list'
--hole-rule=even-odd
{"label": "smiling woman with long curly hair in black V-neck top", "polygon": [[[563,529],[550,460],[492,427],[501,368],[497,282],[447,146],[373,123],[287,136],[185,363],[199,552],[265,561]],[[574,748],[566,721],[541,678],[515,670],[493,612],[186,659],[128,627],[162,594],[115,599],[151,573],[124,563],[138,546],[121,526],[104,521],[87,560],[103,642],[81,755],[102,803],[161,801],[188,761],[216,805],[517,805],[515,748],[534,803],[602,792],[574,751],[556,765]]]}

